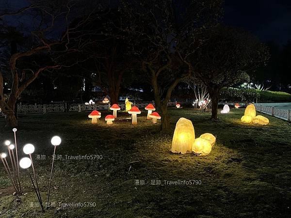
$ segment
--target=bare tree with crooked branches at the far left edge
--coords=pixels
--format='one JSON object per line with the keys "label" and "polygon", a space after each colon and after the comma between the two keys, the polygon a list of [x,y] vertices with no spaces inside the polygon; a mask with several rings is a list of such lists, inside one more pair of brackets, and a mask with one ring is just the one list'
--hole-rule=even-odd
{"label": "bare tree with crooked branches at the far left edge", "polygon": [[[85,9],[84,9],[85,10]],[[64,54],[75,52],[76,49],[68,49],[70,34],[75,30],[69,28],[72,16],[82,13],[74,0],[50,1],[32,0],[26,7],[1,7],[0,22],[2,26],[14,27],[23,34],[26,43],[16,50],[12,50],[7,67],[11,72],[11,92],[7,100],[3,94],[4,67],[0,71],[0,108],[5,114],[8,126],[17,126],[16,100],[20,94],[38,77],[49,69],[59,69],[65,65]],[[22,19],[25,17],[25,19]],[[85,22],[81,20],[79,25]],[[33,57],[39,54],[45,55],[47,60],[33,61]],[[30,67],[19,64],[30,58]],[[6,77],[5,77],[6,78]]]}

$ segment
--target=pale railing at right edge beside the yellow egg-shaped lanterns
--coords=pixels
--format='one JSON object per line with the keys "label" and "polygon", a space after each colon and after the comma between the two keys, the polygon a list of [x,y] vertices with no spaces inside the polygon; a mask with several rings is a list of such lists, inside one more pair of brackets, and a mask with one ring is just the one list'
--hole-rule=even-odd
{"label": "pale railing at right edge beside the yellow egg-shaped lanterns", "polygon": [[275,107],[263,106],[262,104],[255,104],[256,110],[282,120],[291,121],[291,109],[283,110],[276,109]]}

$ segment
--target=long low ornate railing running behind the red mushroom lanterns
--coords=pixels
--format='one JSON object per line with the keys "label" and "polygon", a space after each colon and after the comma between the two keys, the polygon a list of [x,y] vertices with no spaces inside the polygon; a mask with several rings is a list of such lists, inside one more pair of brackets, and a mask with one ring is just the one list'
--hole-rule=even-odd
{"label": "long low ornate railing running behind the red mushroom lanterns", "polygon": [[[134,106],[138,108],[145,108],[148,104],[155,105],[154,102],[138,102],[133,103]],[[179,102],[181,105],[187,105],[190,104],[190,102]],[[177,101],[168,102],[168,106],[176,106]],[[118,104],[120,109],[125,109],[125,104]],[[85,105],[85,104],[34,104],[34,105],[17,105],[17,112],[18,114],[32,114],[32,113],[52,113],[52,112],[65,112],[65,111],[90,111],[90,110],[108,110],[110,108],[110,104],[91,104],[91,105]],[[0,111],[1,115],[1,111]]]}

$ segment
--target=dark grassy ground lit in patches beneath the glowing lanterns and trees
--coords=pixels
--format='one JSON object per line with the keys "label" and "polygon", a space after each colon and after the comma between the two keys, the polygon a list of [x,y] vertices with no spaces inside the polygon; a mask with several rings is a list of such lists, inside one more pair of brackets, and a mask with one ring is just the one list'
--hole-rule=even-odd
{"label": "dark grassy ground lit in patches beneath the glowing lanterns and trees", "polygon": [[[109,126],[103,119],[92,125],[85,112],[20,117],[18,146],[28,142],[36,146],[33,161],[43,202],[54,135],[63,139],[57,155],[64,160],[55,160],[50,196],[55,204],[45,214],[34,206],[37,199],[27,171],[21,171],[25,195],[13,196],[1,164],[0,217],[291,217],[290,123],[264,115],[270,119],[267,126],[242,124],[243,109],[219,114],[216,123],[209,121],[209,112],[169,111],[171,134],[157,133],[159,124],[146,120],[146,112],[138,115],[136,126],[130,120]],[[103,118],[105,113],[109,112],[103,112]],[[129,117],[122,112],[118,116]],[[180,117],[193,122],[196,137],[205,132],[217,136],[209,156],[170,152]],[[0,139],[12,139],[12,133],[1,129]],[[3,151],[4,145],[0,149]],[[46,160],[38,160],[36,155],[46,155]],[[71,155],[101,155],[102,159],[65,159]],[[153,185],[152,180],[158,184],[161,180],[161,184]],[[164,180],[200,180],[201,184],[164,185]],[[70,202],[94,203],[86,207],[61,205]]]}

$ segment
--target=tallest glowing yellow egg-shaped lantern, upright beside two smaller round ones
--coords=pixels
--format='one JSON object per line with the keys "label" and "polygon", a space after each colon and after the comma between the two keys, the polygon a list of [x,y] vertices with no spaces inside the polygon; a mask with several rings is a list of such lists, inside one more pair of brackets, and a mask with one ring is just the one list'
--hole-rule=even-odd
{"label": "tallest glowing yellow egg-shaped lantern, upright beside two smaller round ones", "polygon": [[175,127],[171,151],[181,154],[191,152],[194,140],[195,132],[192,122],[186,118],[180,118]]}

